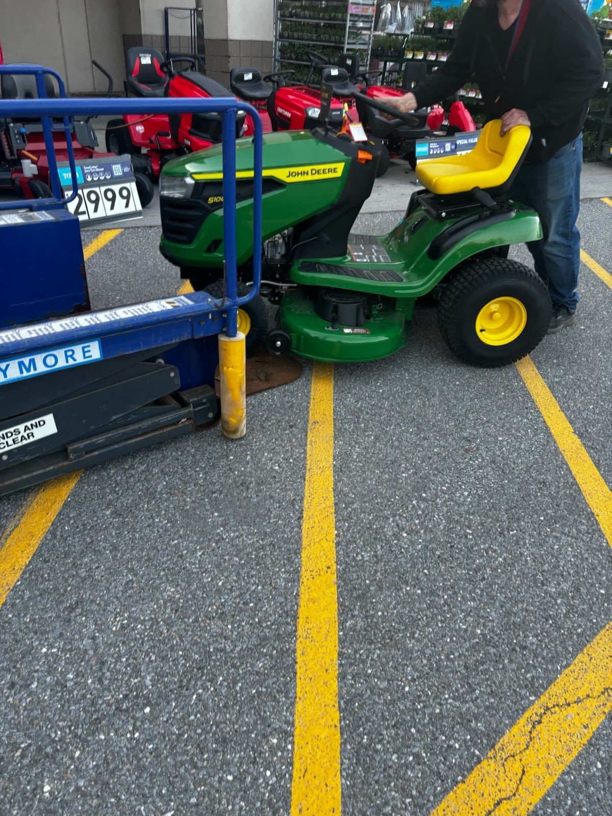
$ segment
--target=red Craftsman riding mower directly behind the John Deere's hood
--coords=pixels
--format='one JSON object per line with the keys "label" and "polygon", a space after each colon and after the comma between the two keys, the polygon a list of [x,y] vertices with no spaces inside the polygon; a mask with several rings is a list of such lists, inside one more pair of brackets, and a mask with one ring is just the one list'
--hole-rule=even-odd
{"label": "red Craftsman riding mower directly behind the John Deere's hood", "polygon": [[[286,79],[293,71],[268,73],[263,79],[256,68],[234,68],[229,74],[229,86],[238,99],[250,102],[259,110],[264,124],[264,132],[272,131],[309,131],[319,124],[321,112],[320,84],[311,87],[313,74],[317,69],[325,69],[328,62],[316,51],[308,51],[310,69],[304,85],[286,85]],[[348,81],[344,69],[335,69],[336,73],[327,82]],[[272,82],[273,85],[266,84]],[[352,104],[352,101],[351,101]],[[344,116],[343,103],[335,99],[330,109],[330,126],[338,128]],[[269,122],[269,124],[268,124]]]}

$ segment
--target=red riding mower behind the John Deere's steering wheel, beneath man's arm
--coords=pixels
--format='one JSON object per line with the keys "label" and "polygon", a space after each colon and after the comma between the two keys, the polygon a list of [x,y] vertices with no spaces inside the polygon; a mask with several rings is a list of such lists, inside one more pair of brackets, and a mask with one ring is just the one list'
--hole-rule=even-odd
{"label": "red riding mower behind the John Deere's steering wheel, beneath man's arm", "polygon": [[[360,90],[371,99],[382,96],[403,96],[411,91],[419,82],[427,77],[427,65],[424,62],[407,62],[403,69],[401,88],[385,85],[375,85],[371,78],[379,76],[379,71],[361,72],[359,69],[358,54],[343,54],[339,64],[347,71],[351,82],[359,83]],[[360,82],[361,81],[361,82]],[[362,83],[362,84],[361,84]],[[421,108],[412,113],[419,120],[419,126],[411,127],[400,123],[397,119],[388,120],[381,116],[374,108],[357,102],[357,114],[366,126],[366,131],[378,136],[384,142],[385,150],[380,156],[379,176],[388,171],[391,158],[406,159],[413,170],[416,167],[415,145],[417,141],[429,139],[432,136],[452,135],[454,133],[476,131],[477,126],[463,102],[453,102],[450,105],[448,120],[440,105],[431,109]]]}

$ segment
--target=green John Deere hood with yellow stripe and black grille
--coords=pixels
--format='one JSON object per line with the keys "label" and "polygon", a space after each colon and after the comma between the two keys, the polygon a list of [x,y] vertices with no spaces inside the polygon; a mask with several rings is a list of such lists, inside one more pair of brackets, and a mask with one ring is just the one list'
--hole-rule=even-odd
{"label": "green John Deere hood with yellow stripe and black grille", "polygon": [[[346,143],[344,143],[346,144]],[[281,233],[330,210],[342,196],[351,166],[344,144],[309,131],[264,135],[262,237]],[[354,162],[353,162],[354,164]],[[190,177],[191,195],[166,197],[170,177]],[[253,143],[236,144],[237,261],[253,248]],[[369,196],[370,187],[366,190]],[[161,178],[162,254],[175,264],[221,267],[223,247],[223,149],[221,145],[168,162]]]}

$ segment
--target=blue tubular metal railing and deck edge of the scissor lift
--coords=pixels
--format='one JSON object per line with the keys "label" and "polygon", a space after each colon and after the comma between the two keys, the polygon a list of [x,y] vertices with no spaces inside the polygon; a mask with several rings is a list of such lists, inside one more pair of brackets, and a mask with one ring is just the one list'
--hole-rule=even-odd
{"label": "blue tubular metal railing and deck edge of the scissor lift", "polygon": [[[77,173],[74,167],[74,157],[69,135],[69,118],[74,116],[96,116],[109,113],[223,113],[223,194],[224,194],[224,247],[225,247],[225,281],[226,300],[223,306],[217,308],[214,301],[203,293],[189,295],[191,305],[181,305],[157,315],[139,315],[116,322],[117,325],[106,323],[100,326],[80,327],[61,334],[44,334],[31,338],[9,340],[6,332],[0,332],[0,361],[20,353],[36,353],[45,348],[53,348],[58,341],[66,344],[71,339],[105,338],[104,357],[117,357],[139,348],[153,348],[161,344],[175,342],[180,339],[197,338],[204,335],[217,334],[220,331],[219,313],[225,317],[225,330],[230,337],[237,331],[237,310],[243,304],[255,298],[261,283],[261,174],[262,174],[262,135],[263,128],[259,113],[246,102],[238,101],[233,97],[211,99],[69,99],[65,97],[64,82],[60,76],[42,65],[0,65],[0,73],[33,73],[37,78],[38,92],[41,95],[37,100],[0,100],[0,118],[42,119],[47,152],[49,153],[49,171],[51,179],[59,177],[55,162],[55,150],[52,139],[52,119],[63,118],[64,129],[67,129],[67,144],[69,145],[69,162],[73,177],[73,196],[76,195]],[[60,86],[60,99],[50,100],[44,97],[44,73],[54,76]],[[41,93],[42,91],[42,93]],[[253,286],[248,295],[237,297],[237,264],[236,264],[236,116],[237,111],[250,114],[255,126],[254,143],[254,179],[253,179]],[[47,141],[47,137],[48,140]],[[51,149],[50,149],[51,148]],[[54,187],[55,193],[55,187]],[[59,196],[58,196],[59,197]],[[38,199],[37,205],[42,204],[47,209],[53,206],[64,206],[69,199],[58,202],[54,198]],[[31,200],[24,202],[7,202],[8,206],[0,205],[0,209],[17,207],[34,207]],[[39,207],[38,207],[39,208]],[[95,314],[95,313],[94,313]],[[214,315],[214,320],[213,320]],[[199,318],[204,317],[202,320]],[[214,327],[211,328],[211,321]],[[54,323],[69,324],[69,318],[54,321]],[[9,330],[10,332],[10,330]],[[159,336],[157,333],[159,332]],[[154,334],[154,336],[153,336]],[[113,336],[110,336],[113,335]],[[119,339],[119,336],[121,339]],[[125,344],[122,340],[125,339]],[[108,353],[107,353],[108,351]]]}

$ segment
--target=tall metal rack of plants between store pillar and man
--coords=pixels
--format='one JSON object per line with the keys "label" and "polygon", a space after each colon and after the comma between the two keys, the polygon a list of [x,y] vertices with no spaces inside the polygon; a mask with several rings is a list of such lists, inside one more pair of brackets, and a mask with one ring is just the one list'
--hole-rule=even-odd
{"label": "tall metal rack of plants between store pillar and man", "polygon": [[304,66],[301,73],[305,73],[308,50],[320,51],[330,64],[343,52],[358,52],[365,70],[370,64],[375,14],[376,0],[276,0],[275,70],[294,64]]}

